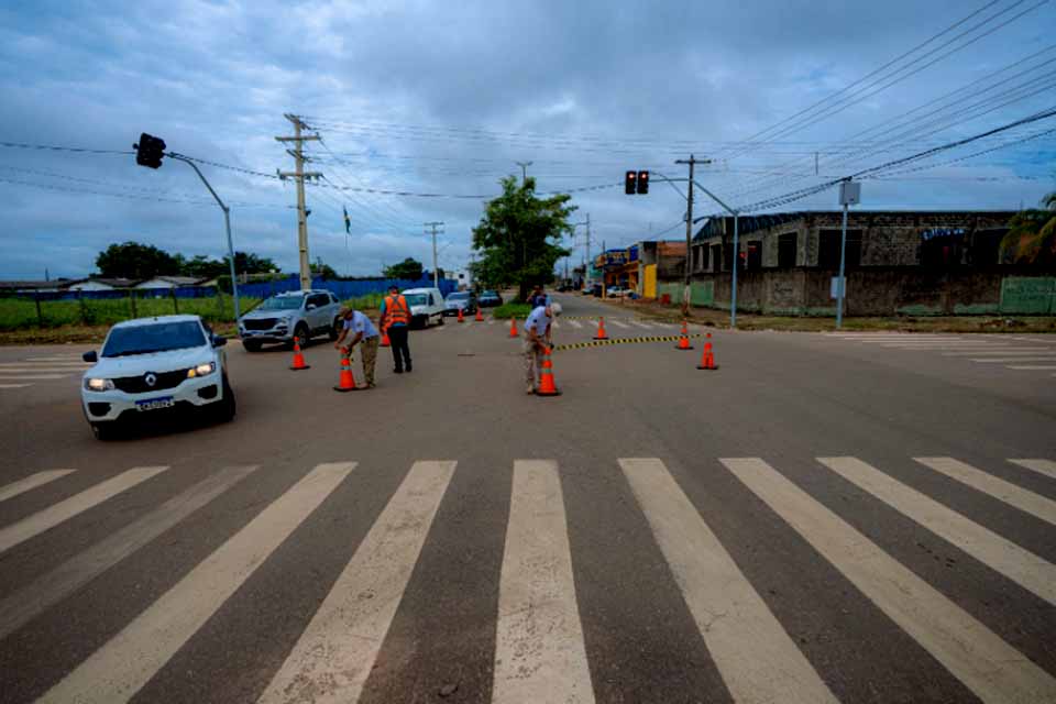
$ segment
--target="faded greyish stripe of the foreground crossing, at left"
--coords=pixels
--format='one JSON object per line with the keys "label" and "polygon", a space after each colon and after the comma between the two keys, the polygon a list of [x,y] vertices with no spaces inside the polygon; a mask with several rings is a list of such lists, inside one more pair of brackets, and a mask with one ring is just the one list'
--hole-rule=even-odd
{"label": "faded greyish stripe of the foreground crossing, at left", "polygon": [[207,476],[0,601],[0,640],[187,518],[254,470],[256,465],[230,466]]}

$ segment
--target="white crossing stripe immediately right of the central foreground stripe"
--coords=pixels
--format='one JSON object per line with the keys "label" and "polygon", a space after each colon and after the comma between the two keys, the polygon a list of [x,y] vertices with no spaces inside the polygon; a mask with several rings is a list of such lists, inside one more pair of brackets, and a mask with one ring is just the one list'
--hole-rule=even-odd
{"label": "white crossing stripe immediately right of the central foreground stripe", "polygon": [[619,460],[729,693],[836,702],[660,460]]}

